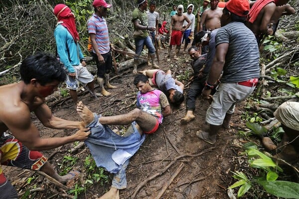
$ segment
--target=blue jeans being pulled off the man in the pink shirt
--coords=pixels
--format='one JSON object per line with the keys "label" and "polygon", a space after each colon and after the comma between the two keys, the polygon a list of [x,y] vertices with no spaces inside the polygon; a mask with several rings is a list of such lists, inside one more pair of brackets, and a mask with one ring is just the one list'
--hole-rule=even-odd
{"label": "blue jeans being pulled off the man in the pink shirt", "polygon": [[94,119],[87,127],[91,134],[84,141],[98,167],[104,167],[108,172],[114,173],[112,185],[117,189],[127,187],[126,168],[129,159],[138,151],[146,135],[140,135],[132,122],[134,133],[127,137],[113,132],[107,125],[99,122],[99,117],[94,113]]}

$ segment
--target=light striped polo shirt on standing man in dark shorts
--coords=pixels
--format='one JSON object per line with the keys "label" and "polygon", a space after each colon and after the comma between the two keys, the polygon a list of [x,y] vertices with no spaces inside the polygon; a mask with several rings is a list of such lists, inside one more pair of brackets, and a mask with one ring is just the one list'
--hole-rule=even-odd
{"label": "light striped polo shirt on standing man in dark shorts", "polygon": [[[101,54],[110,51],[110,41],[108,34],[108,26],[104,17],[100,17],[95,13],[88,19],[87,22],[88,34],[96,34],[96,42]],[[92,50],[94,53],[95,51]]]}

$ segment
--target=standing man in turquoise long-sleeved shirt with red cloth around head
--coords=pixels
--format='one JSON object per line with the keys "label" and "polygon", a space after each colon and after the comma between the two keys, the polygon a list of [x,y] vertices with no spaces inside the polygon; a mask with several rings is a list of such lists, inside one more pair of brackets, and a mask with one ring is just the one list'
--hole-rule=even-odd
{"label": "standing man in turquoise long-sleeved shirt with red cloth around head", "polygon": [[[85,68],[85,58],[79,45],[79,34],[76,29],[75,16],[71,9],[65,4],[57,4],[54,7],[54,14],[58,19],[54,31],[54,37],[57,45],[57,54],[60,61],[67,69],[68,76],[66,85],[75,104],[78,102],[77,81],[87,84],[87,87],[93,92],[93,96],[103,96],[95,93],[94,77]],[[80,63],[81,62],[81,63]]]}

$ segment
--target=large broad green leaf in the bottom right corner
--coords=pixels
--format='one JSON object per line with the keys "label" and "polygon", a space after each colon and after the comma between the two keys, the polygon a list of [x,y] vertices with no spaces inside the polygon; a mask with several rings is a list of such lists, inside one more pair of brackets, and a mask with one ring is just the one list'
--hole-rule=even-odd
{"label": "large broad green leaf in the bottom right corner", "polygon": [[299,184],[289,181],[257,181],[264,189],[276,197],[299,199]]}

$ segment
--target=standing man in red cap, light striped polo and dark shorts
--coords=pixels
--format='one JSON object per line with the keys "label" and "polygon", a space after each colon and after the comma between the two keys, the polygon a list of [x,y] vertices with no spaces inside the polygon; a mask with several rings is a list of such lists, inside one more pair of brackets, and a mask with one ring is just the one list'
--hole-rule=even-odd
{"label": "standing man in red cap, light striped polo and dark shorts", "polygon": [[104,79],[108,89],[116,89],[109,82],[109,73],[112,67],[111,49],[113,49],[113,46],[109,41],[108,26],[104,16],[107,14],[107,9],[112,5],[106,3],[105,0],[94,0],[92,5],[95,13],[89,18],[87,23],[92,44],[91,55],[97,64],[97,81],[100,85],[101,94],[110,96],[111,93],[104,88]]}

